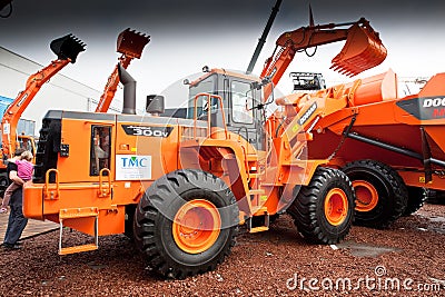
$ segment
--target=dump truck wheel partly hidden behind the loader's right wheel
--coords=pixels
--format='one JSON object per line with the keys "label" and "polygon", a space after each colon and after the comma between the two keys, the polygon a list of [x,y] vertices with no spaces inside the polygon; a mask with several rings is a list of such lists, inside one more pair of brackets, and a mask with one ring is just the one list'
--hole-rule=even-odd
{"label": "dump truck wheel partly hidden behind the loader's right wheel", "polygon": [[404,214],[408,190],[393,168],[375,160],[358,160],[347,164],[343,171],[355,188],[357,225],[386,228]]}

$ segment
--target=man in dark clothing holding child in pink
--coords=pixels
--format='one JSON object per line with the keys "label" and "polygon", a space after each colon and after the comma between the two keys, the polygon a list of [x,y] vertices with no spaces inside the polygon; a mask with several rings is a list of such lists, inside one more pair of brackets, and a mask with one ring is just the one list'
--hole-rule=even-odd
{"label": "man in dark clothing holding child in pink", "polygon": [[[20,158],[23,151],[24,149],[17,149],[14,152],[14,157],[8,162],[7,177],[9,185],[11,182],[23,185],[23,180],[17,175],[17,165],[16,165],[16,160]],[[16,190],[12,194],[11,200],[9,202],[11,212],[9,214],[7,232],[4,235],[4,240],[3,240],[3,247],[6,249],[20,248],[17,241],[20,239],[20,236],[28,224],[28,219],[23,216],[22,211],[23,207],[22,192],[23,192],[22,188]]]}

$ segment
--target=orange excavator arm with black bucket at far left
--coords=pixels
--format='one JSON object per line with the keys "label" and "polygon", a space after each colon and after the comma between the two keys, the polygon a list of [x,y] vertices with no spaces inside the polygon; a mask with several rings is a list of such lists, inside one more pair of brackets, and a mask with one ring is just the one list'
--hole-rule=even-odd
{"label": "orange excavator arm with black bucket at far left", "polygon": [[58,59],[51,61],[50,65],[28,78],[24,90],[9,105],[1,119],[3,158],[10,158],[13,154],[18,137],[17,123],[24,109],[29,106],[44,82],[69,62],[76,62],[79,52],[85,51],[85,43],[75,36],[68,34],[51,41],[50,48],[58,56]]}

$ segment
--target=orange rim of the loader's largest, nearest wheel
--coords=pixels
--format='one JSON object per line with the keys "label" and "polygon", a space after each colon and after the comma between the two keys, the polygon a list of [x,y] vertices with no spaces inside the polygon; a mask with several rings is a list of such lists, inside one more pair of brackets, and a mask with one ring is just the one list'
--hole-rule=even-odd
{"label": "orange rim of the loader's largest, nearest wheel", "polygon": [[221,218],[217,207],[204,199],[186,202],[175,216],[172,234],[180,249],[199,254],[209,249],[217,240]]}

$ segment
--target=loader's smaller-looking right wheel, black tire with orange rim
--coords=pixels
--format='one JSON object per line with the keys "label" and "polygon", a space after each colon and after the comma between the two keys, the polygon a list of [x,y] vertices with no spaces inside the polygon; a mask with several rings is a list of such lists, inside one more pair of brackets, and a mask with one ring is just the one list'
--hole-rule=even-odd
{"label": "loader's smaller-looking right wheel, black tire with orange rim", "polygon": [[347,176],[337,169],[319,167],[310,184],[300,188],[287,211],[304,238],[332,245],[349,232],[354,201],[353,185]]}

